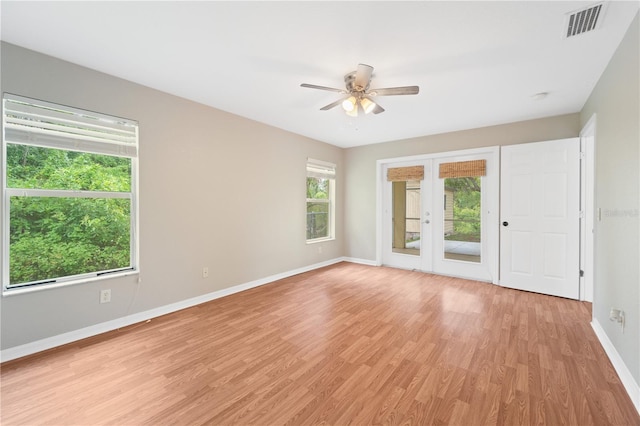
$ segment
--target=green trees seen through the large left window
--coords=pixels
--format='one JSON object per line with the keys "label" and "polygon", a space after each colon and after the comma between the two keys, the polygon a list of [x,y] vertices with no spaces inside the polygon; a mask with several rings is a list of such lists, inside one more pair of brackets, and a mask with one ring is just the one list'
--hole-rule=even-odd
{"label": "green trees seen through the large left window", "polygon": [[[9,284],[131,266],[132,159],[8,143]],[[13,191],[16,194],[16,191]]]}

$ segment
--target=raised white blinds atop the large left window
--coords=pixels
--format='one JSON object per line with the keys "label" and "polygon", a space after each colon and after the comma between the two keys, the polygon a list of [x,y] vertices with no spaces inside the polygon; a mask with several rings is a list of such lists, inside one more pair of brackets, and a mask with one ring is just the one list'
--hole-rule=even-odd
{"label": "raised white blinds atop the large left window", "polygon": [[135,158],[138,124],[44,101],[5,94],[4,138],[8,143]]}

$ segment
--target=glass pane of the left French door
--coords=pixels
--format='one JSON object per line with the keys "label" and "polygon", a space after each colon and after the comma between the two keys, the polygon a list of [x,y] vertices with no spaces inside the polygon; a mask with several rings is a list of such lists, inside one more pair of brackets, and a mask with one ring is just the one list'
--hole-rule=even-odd
{"label": "glass pane of the left French door", "polygon": [[392,182],[394,253],[420,255],[420,182]]}

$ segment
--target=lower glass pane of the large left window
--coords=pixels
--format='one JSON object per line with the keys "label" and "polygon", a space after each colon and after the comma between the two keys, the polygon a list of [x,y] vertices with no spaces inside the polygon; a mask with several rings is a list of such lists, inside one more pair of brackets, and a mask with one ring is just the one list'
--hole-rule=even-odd
{"label": "lower glass pane of the large left window", "polygon": [[10,284],[128,268],[131,200],[11,197]]}

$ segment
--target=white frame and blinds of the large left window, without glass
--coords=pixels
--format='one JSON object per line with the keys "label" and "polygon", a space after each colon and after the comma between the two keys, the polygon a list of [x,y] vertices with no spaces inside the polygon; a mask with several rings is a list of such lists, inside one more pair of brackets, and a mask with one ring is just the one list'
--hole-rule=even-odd
{"label": "white frame and blinds of the large left window, without glass", "polygon": [[[36,110],[42,108],[52,109],[52,116],[58,111],[68,114],[62,120],[73,125],[77,125],[76,130],[69,133],[56,132],[45,129],[46,121],[26,122],[25,126],[16,126],[14,118],[8,118],[12,107],[7,105],[19,104],[19,107],[26,105],[29,109],[33,106]],[[138,175],[138,145],[139,145],[139,125],[138,122],[130,119],[110,116],[103,113],[96,113],[84,109],[72,108],[61,104],[40,101],[37,99],[4,93],[2,98],[2,161],[0,185],[2,187],[2,209],[1,224],[3,237],[0,244],[0,254],[2,262],[2,295],[22,294],[33,291],[40,291],[56,287],[82,284],[97,280],[104,280],[116,277],[139,274],[139,175]],[[44,120],[49,117],[44,116]],[[52,119],[53,122],[56,118]],[[9,124],[9,122],[11,122]],[[92,136],[91,131],[85,129],[92,126],[102,126],[113,128],[120,126],[127,129],[128,136],[123,140],[116,140],[116,136],[109,135],[107,130],[105,136]],[[54,125],[55,126],[55,125]],[[33,130],[32,130],[33,129]],[[31,133],[33,132],[33,134]],[[88,134],[82,134],[83,132]],[[117,130],[116,130],[117,132]],[[57,133],[57,135],[56,135]],[[10,134],[10,136],[9,136]],[[126,140],[125,140],[126,139]],[[128,192],[92,191],[92,190],[68,190],[68,189],[45,189],[45,188],[9,188],[8,187],[8,166],[7,166],[7,146],[34,146],[47,149],[59,149],[63,151],[75,151],[81,153],[98,154],[111,157],[125,157],[131,161],[130,190]],[[10,283],[10,230],[11,230],[11,198],[12,197],[47,197],[47,198],[94,198],[94,199],[128,199],[129,202],[129,266],[111,270],[92,271],[76,275],[62,277],[47,277],[42,280],[26,283]]]}

